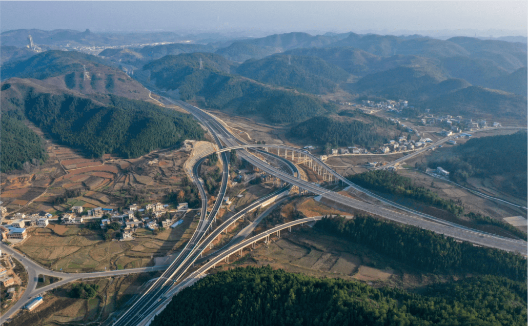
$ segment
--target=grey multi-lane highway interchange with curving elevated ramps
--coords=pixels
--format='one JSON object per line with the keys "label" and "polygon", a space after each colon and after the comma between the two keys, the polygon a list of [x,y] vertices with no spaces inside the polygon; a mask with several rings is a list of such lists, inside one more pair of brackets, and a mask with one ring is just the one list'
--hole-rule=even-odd
{"label": "grey multi-lane highway interchange with curving elevated ramps", "polygon": [[[227,229],[232,223],[236,222],[240,218],[243,218],[243,215],[255,208],[258,208],[261,206],[262,202],[268,200],[272,196],[276,196],[278,194],[283,194],[284,192],[288,191],[287,188],[282,188],[275,193],[272,193],[268,195],[265,198],[262,198],[254,203],[252,203],[249,207],[243,209],[242,211],[238,212],[228,220],[224,221],[219,227],[212,230],[212,223],[216,218],[216,214],[218,213],[218,210],[221,207],[222,200],[225,195],[225,191],[227,190],[227,181],[229,177],[229,170],[228,170],[228,159],[225,152],[231,150],[231,147],[237,147],[236,151],[237,154],[242,157],[244,160],[248,161],[253,166],[258,167],[262,171],[265,171],[266,173],[275,176],[276,178],[282,180],[283,182],[286,182],[290,185],[296,185],[301,190],[306,190],[310,193],[319,195],[319,198],[325,198],[329,201],[332,201],[337,204],[341,204],[342,206],[353,208],[357,210],[361,210],[367,213],[370,213],[372,215],[380,216],[383,218],[387,218],[393,221],[405,223],[408,225],[414,225],[418,226],[424,229],[429,229],[432,231],[435,231],[439,234],[444,234],[446,236],[450,236],[459,240],[465,240],[470,241],[476,245],[481,246],[487,246],[487,247],[493,247],[498,248],[506,251],[511,252],[518,252],[526,256],[526,250],[527,250],[527,243],[522,240],[515,240],[515,239],[509,239],[504,237],[498,237],[491,234],[487,234],[486,232],[469,229],[466,227],[461,227],[459,225],[456,225],[454,223],[445,222],[442,220],[438,220],[436,218],[423,215],[418,212],[414,212],[412,210],[405,209],[406,213],[401,213],[396,210],[386,209],[382,207],[375,206],[374,204],[359,201],[350,197],[347,197],[345,195],[329,191],[325,188],[319,187],[316,184],[312,184],[310,182],[301,180],[299,178],[300,174],[298,172],[297,166],[285,159],[281,159],[281,157],[266,153],[262,151],[262,149],[258,149],[258,151],[261,154],[265,155],[271,155],[274,156],[277,160],[282,160],[284,165],[287,164],[289,171],[282,171],[277,169],[274,166],[269,165],[265,161],[262,161],[259,157],[256,155],[252,155],[248,151],[244,150],[241,146],[247,145],[240,139],[233,136],[228,129],[222,125],[222,123],[215,118],[214,116],[205,113],[203,110],[196,108],[190,104],[185,103],[184,101],[176,101],[172,99],[168,99],[165,97],[162,97],[161,100],[165,101],[165,103],[169,102],[175,105],[178,105],[185,110],[189,111],[199,122],[204,125],[206,128],[208,128],[208,131],[210,132],[210,135],[213,137],[216,145],[220,148],[220,151],[217,153],[221,157],[223,171],[222,171],[222,181],[221,181],[221,187],[218,197],[216,198],[216,201],[213,205],[213,208],[211,209],[209,215],[207,214],[207,197],[205,194],[205,190],[203,189],[202,181],[200,180],[198,176],[198,168],[200,164],[205,160],[205,157],[198,160],[196,164],[193,166],[192,176],[193,176],[193,182],[197,185],[197,188],[200,192],[200,197],[202,200],[202,210],[200,215],[200,221],[199,225],[197,226],[192,238],[188,241],[185,248],[182,250],[182,252],[176,257],[174,262],[167,266],[156,266],[156,267],[147,267],[147,268],[137,268],[142,269],[142,271],[132,271],[132,270],[126,270],[126,271],[108,271],[108,272],[97,272],[97,273],[83,273],[87,275],[82,274],[71,274],[75,275],[74,277],[68,277],[67,273],[57,273],[49,271],[48,269],[45,269],[33,262],[31,260],[26,259],[25,262],[23,262],[23,265],[26,267],[29,278],[30,278],[30,284],[28,285],[28,290],[30,292],[24,293],[24,297],[20,299],[15,306],[13,306],[10,311],[8,311],[7,316],[10,317],[14,312],[16,312],[18,309],[22,308],[25,302],[27,302],[26,298],[31,298],[34,295],[38,293],[42,293],[43,291],[48,291],[48,287],[53,288],[55,286],[59,286],[68,282],[71,282],[73,280],[77,280],[79,278],[95,278],[95,277],[101,277],[101,276],[111,276],[111,275],[120,275],[120,274],[130,274],[135,272],[143,272],[143,271],[151,271],[151,270],[159,270],[159,269],[165,269],[165,272],[163,275],[155,282],[152,283],[152,285],[148,288],[147,291],[143,293],[139,297],[137,301],[135,301],[133,304],[129,306],[129,308],[124,312],[121,313],[119,318],[116,318],[114,325],[119,326],[125,326],[125,325],[138,325],[145,320],[149,320],[152,318],[154,313],[157,313],[161,311],[163,305],[167,303],[167,300],[170,300],[172,295],[176,293],[176,290],[178,288],[181,288],[184,284],[188,285],[191,284],[190,280],[195,280],[197,276],[202,275],[207,269],[209,269],[211,266],[214,266],[214,262],[219,262],[221,259],[225,257],[225,252],[228,253],[234,253],[235,251],[244,248],[248,246],[248,244],[251,243],[251,239],[256,238],[253,237],[249,240],[243,241],[239,244],[234,244],[233,247],[224,248],[224,254],[216,256],[211,262],[204,265],[199,270],[193,272],[190,275],[185,275],[185,273],[188,271],[188,269],[193,265],[195,260],[197,258],[200,258],[202,252],[210,246],[212,241],[220,235],[222,231]],[[444,141],[447,141],[447,139],[442,139]],[[223,143],[223,144],[222,144]],[[225,146],[224,146],[225,145]],[[270,145],[261,145],[262,147],[267,147]],[[290,146],[282,146],[282,148],[288,147],[291,151],[300,151],[303,152],[303,155],[309,155],[312,160],[317,162],[317,164],[321,165],[326,169],[328,172],[332,173],[338,180],[341,180],[342,182],[346,183],[350,187],[354,188],[354,191],[361,191],[366,193],[367,195],[372,196],[375,199],[380,200],[381,198],[375,197],[374,194],[369,193],[368,191],[361,189],[357,187],[355,184],[352,184],[350,181],[343,178],[343,176],[337,174],[335,171],[333,171],[329,166],[327,166],[324,162],[320,161],[318,157],[315,157],[314,155],[311,155],[307,153],[304,150],[300,150],[299,148],[290,147]],[[413,153],[418,155],[418,153]],[[411,154],[411,155],[413,155]],[[414,156],[414,155],[413,155]],[[409,158],[410,156],[405,156],[404,158]],[[392,162],[397,163],[397,162]],[[383,199],[381,199],[383,200]],[[393,204],[388,201],[384,201],[384,203]],[[398,209],[404,209],[402,207],[397,207]],[[295,222],[295,221],[294,221]],[[293,225],[296,225],[294,223]],[[283,225],[285,227],[288,227],[286,225]],[[280,227],[278,227],[280,228]],[[211,233],[204,239],[207,232],[211,231]],[[271,230],[269,230],[271,231]],[[266,231],[268,232],[268,231]],[[260,236],[260,235],[259,235]],[[261,239],[260,237],[259,239]],[[203,241],[202,241],[203,240]],[[249,242],[248,242],[249,241]],[[254,240],[256,241],[256,240]],[[253,241],[253,242],[254,242]],[[11,252],[10,252],[11,250]],[[20,254],[16,253],[13,249],[9,248],[9,250],[6,250],[7,252],[10,252],[10,254],[13,254],[15,258],[21,260]],[[13,252],[13,253],[12,253]],[[18,255],[18,256],[17,256]],[[227,254],[229,257],[229,254]],[[23,258],[22,258],[23,259]],[[41,270],[42,269],[42,270]],[[115,274],[112,274],[115,273]],[[35,290],[36,277],[39,274],[44,275],[50,275],[50,276],[57,276],[62,277],[63,280],[58,283],[52,284],[48,287],[41,288],[39,290]],[[59,274],[59,275],[55,275]],[[78,277],[80,276],[80,277]],[[186,276],[186,277],[184,277]],[[181,281],[177,286],[175,286],[176,282]],[[26,291],[28,291],[26,290]],[[42,290],[42,291],[41,291]],[[5,318],[3,318],[3,321],[5,321]],[[2,322],[3,322],[2,321]]]}

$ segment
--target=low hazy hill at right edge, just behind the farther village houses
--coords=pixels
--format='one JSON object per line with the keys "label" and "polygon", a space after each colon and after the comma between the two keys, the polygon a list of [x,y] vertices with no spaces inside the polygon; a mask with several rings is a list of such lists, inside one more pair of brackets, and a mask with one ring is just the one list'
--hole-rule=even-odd
{"label": "low hazy hill at right edge, just behind the farther village houses", "polygon": [[471,86],[426,100],[431,112],[470,117],[526,120],[526,97],[500,90]]}

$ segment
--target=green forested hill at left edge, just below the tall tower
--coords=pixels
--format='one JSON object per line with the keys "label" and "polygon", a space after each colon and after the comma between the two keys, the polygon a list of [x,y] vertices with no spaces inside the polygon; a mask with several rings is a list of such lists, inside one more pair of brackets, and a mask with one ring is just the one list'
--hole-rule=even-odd
{"label": "green forested hill at left edge, just below the tall tower", "polygon": [[76,51],[45,51],[33,57],[2,66],[2,80],[18,78],[46,79],[82,70],[82,64],[105,64],[105,61],[95,55]]}

